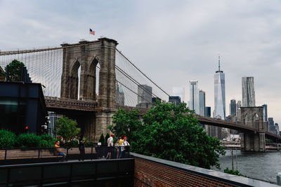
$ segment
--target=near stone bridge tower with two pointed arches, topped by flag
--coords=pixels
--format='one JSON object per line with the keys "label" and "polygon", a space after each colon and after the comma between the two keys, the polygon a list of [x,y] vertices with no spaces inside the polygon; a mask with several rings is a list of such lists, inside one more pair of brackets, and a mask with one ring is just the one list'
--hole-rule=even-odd
{"label": "near stone bridge tower with two pointed arches, topped by flag", "polygon": [[[101,133],[106,134],[107,126],[111,125],[112,115],[116,111],[117,44],[113,39],[101,38],[98,41],[79,41],[75,44],[61,45],[63,46],[63,74],[60,97],[98,102],[96,113],[84,116],[82,122],[84,123],[82,133],[91,141],[98,141]],[[100,67],[98,91],[96,91],[97,64]],[[81,67],[80,77],[78,77],[79,67]],[[98,99],[96,92],[98,92]]]}

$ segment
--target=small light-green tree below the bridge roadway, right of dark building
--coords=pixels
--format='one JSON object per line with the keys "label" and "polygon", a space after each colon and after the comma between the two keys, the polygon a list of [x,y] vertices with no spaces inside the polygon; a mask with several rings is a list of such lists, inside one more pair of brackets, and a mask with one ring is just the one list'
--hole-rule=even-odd
{"label": "small light-green tree below the bridge roadway, right of dark building", "polygon": [[80,132],[76,120],[71,120],[65,116],[58,119],[55,125],[57,128],[56,133],[63,137],[65,141],[70,141]]}

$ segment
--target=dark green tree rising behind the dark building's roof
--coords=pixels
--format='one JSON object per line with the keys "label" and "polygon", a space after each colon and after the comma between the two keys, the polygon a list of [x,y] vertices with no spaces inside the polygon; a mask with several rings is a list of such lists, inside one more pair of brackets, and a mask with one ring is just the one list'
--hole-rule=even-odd
{"label": "dark green tree rising behind the dark building's roof", "polygon": [[20,81],[21,69],[25,64],[18,60],[13,60],[10,64],[6,65],[4,76],[6,77],[8,70],[8,81]]}

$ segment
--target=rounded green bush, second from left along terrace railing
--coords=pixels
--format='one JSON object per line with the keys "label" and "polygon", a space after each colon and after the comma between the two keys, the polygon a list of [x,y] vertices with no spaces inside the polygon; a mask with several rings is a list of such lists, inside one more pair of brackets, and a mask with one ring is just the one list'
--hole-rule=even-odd
{"label": "rounded green bush, second from left along terrace railing", "polygon": [[[17,138],[17,146],[22,148],[39,147],[40,140],[40,137],[35,134],[20,134]],[[41,141],[41,144],[46,144],[46,142]]]}

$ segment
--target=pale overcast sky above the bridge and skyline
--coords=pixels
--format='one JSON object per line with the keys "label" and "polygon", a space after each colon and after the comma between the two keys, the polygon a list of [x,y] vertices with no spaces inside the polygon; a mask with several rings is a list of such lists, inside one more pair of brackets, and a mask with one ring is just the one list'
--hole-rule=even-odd
{"label": "pale overcast sky above the bridge and skyline", "polygon": [[268,104],[268,117],[281,123],[280,10],[281,1],[274,0],[0,0],[0,49],[106,36],[171,95],[173,87],[197,80],[212,111],[220,54],[226,114],[230,99],[242,100],[242,76],[254,76],[256,105]]}

